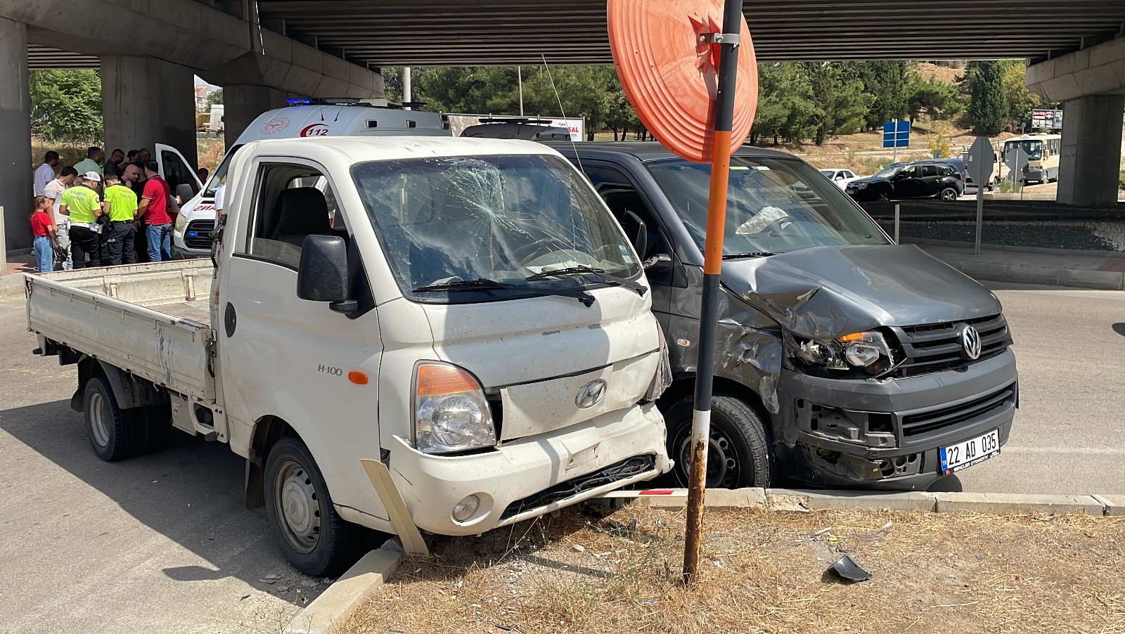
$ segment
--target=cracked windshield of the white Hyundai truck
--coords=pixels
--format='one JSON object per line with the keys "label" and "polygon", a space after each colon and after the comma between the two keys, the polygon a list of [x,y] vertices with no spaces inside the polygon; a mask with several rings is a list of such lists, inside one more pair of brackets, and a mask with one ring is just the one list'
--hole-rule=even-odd
{"label": "cracked windshield of the white Hyundai truck", "polygon": [[510,299],[640,275],[620,227],[562,158],[377,161],[352,176],[408,297]]}

